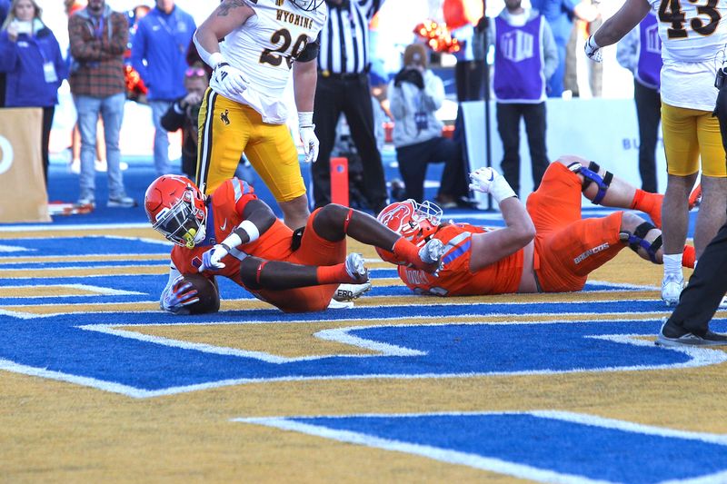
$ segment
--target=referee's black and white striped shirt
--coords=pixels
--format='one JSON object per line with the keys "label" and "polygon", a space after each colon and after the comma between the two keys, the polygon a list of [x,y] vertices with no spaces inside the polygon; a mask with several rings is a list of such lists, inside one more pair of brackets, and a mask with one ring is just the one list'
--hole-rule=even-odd
{"label": "referee's black and white striped shirt", "polygon": [[[321,31],[318,68],[334,74],[359,74],[369,64],[369,23],[385,0],[350,0],[339,8],[328,5]],[[348,6],[345,4],[348,3]]]}

